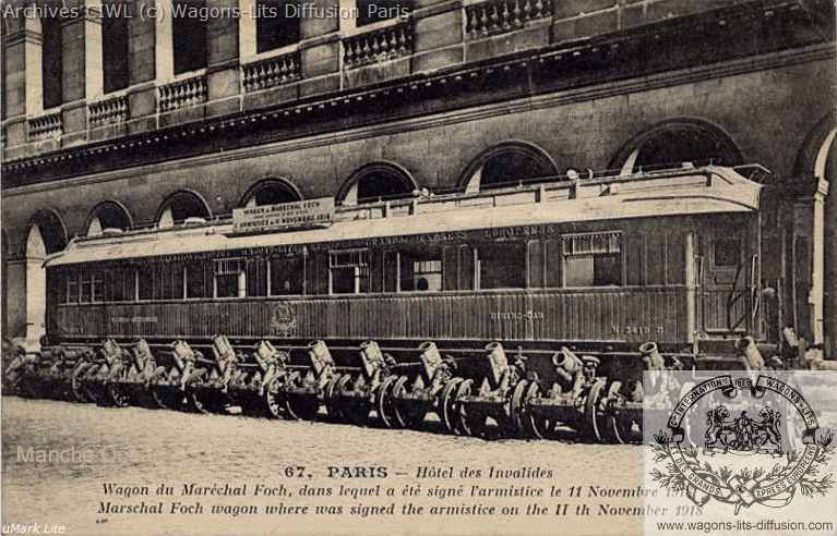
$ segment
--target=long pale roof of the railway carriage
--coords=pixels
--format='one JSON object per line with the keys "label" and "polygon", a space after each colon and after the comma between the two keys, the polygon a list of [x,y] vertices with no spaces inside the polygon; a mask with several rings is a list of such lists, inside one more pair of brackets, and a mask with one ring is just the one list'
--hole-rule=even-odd
{"label": "long pale roof of the railway carriage", "polygon": [[46,266],[429,233],[758,209],[762,185],[715,166],[338,207],[327,227],[237,233],[231,220],[75,239]]}

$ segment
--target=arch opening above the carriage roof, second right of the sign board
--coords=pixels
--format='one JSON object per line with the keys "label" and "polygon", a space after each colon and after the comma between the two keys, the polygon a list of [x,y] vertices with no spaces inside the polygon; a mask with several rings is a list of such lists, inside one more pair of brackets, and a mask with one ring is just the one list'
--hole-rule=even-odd
{"label": "arch opening above the carriage roof, second right of the sign board", "polygon": [[477,192],[558,174],[558,166],[547,151],[529,142],[509,141],[480,153],[459,175],[457,185]]}

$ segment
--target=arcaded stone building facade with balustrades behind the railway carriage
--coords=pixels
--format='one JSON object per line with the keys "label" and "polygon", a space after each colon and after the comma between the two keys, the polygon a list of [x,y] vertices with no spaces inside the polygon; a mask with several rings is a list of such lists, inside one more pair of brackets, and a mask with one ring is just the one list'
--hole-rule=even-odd
{"label": "arcaded stone building facade with balustrades behind the railway carriage", "polygon": [[833,2],[378,3],[4,3],[3,332],[37,341],[76,235],[713,160],[788,185],[800,334],[834,348]]}

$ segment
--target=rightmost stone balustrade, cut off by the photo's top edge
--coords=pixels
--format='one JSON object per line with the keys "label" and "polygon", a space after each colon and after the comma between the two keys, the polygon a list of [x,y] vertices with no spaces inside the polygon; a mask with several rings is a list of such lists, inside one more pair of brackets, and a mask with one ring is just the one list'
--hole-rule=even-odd
{"label": "rightmost stone balustrade, cut off by the photo's top edge", "polygon": [[465,35],[479,39],[552,15],[552,0],[491,0],[465,8]]}

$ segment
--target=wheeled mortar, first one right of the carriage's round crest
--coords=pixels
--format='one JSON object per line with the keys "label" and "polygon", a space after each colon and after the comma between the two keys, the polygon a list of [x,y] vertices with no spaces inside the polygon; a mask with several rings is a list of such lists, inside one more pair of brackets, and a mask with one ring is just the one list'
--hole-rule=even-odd
{"label": "wheeled mortar, first one right of the carriage's round crest", "polygon": [[297,419],[313,418],[325,401],[326,385],[339,378],[325,342],[311,342],[308,345],[308,356],[311,361],[309,369],[304,373],[290,373],[282,386],[285,409]]}

